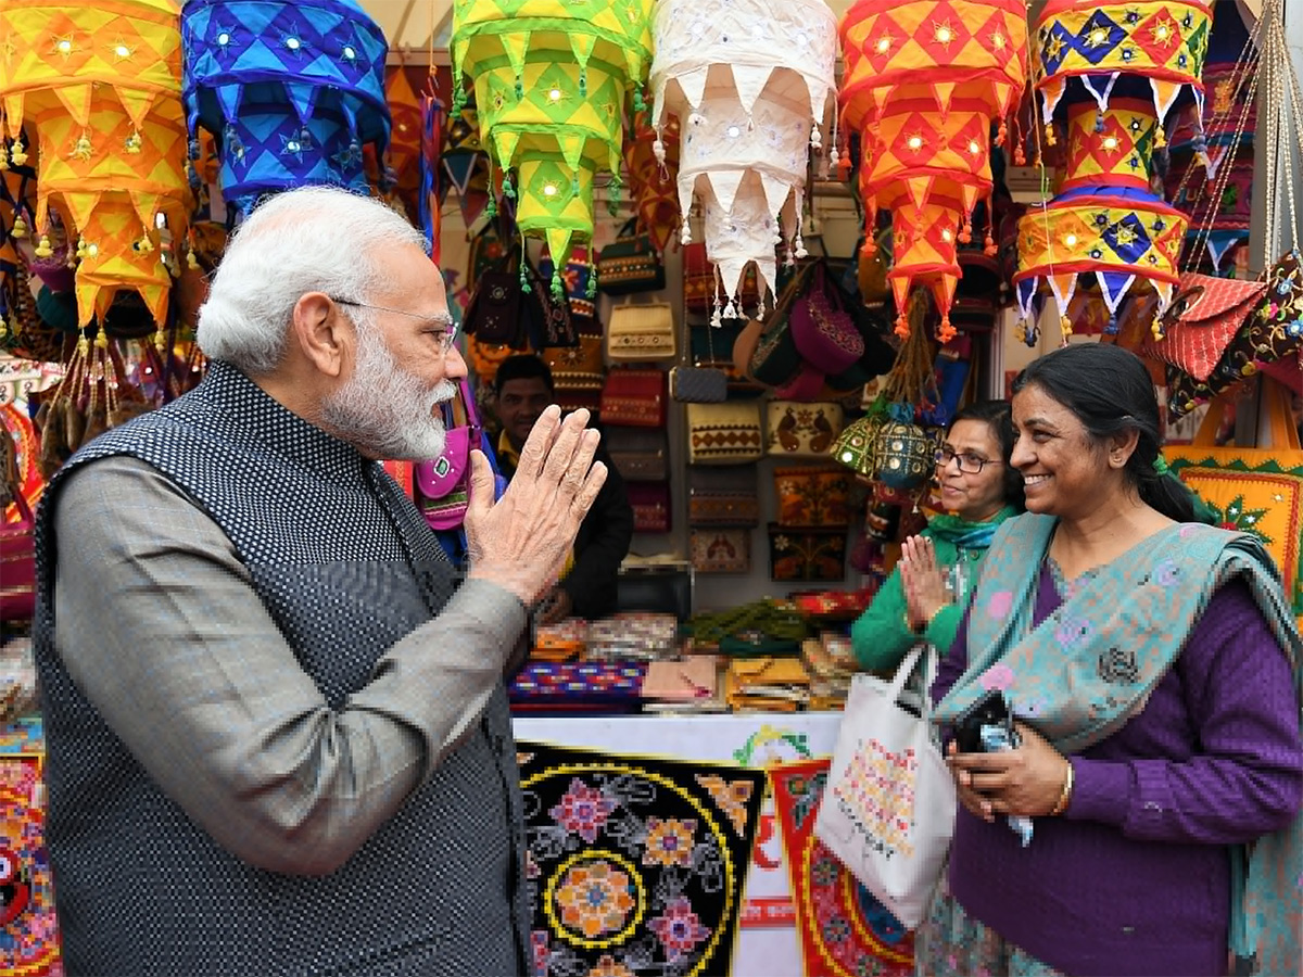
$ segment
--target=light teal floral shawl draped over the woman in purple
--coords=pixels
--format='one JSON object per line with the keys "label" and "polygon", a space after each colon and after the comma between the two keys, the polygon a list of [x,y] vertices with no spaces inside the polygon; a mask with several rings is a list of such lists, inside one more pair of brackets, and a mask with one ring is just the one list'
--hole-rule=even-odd
{"label": "light teal floral shawl draped over the woman in purple", "polygon": [[[997,531],[968,619],[968,670],[938,703],[952,722],[988,688],[1005,688],[1038,732],[1071,753],[1117,732],[1144,707],[1213,593],[1235,577],[1253,593],[1289,657],[1303,701],[1303,638],[1280,574],[1253,537],[1183,524],[1141,541],[1075,581],[1059,610],[1032,628],[1036,591],[1057,520],[1025,515]],[[1300,714],[1303,728],[1303,714]],[[1237,849],[1235,853],[1240,853]],[[1231,948],[1256,952],[1256,972],[1298,974],[1303,960],[1303,815],[1234,857],[1243,901]]]}

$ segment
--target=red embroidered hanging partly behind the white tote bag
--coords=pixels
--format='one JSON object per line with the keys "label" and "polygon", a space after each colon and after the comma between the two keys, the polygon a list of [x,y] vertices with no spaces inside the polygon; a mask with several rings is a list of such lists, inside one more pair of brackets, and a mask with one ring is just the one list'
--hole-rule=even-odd
{"label": "red embroidered hanging partly behind the white tote bag", "polygon": [[911,977],[913,934],[814,836],[829,758],[770,767],[807,977]]}

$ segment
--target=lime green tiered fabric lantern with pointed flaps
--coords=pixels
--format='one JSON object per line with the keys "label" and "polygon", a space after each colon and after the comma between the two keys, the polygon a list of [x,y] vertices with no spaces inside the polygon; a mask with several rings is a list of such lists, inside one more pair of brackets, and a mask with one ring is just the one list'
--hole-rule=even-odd
{"label": "lime green tiered fabric lantern with pointed flaps", "polygon": [[[642,107],[650,13],[650,0],[453,3],[453,113],[469,78],[481,142],[503,172],[503,195],[516,201],[516,225],[551,254],[571,254],[573,240],[588,244],[592,264],[594,178],[611,173],[618,193],[624,102],[632,91],[633,108]],[[559,272],[551,290],[563,293]]]}

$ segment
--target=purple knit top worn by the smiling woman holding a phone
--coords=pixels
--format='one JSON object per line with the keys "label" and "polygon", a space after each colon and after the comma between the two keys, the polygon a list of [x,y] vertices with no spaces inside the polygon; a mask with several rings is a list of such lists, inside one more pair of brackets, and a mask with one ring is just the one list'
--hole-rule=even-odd
{"label": "purple knit top worn by the smiling woman holding a phone", "polygon": [[[1046,565],[1036,623],[1059,603]],[[967,638],[966,616],[934,700],[967,668]],[[1067,812],[1036,818],[1027,848],[1003,817],[959,809],[951,894],[1074,977],[1225,974],[1226,845],[1283,827],[1303,805],[1299,703],[1248,588],[1217,591],[1143,711],[1071,762]]]}

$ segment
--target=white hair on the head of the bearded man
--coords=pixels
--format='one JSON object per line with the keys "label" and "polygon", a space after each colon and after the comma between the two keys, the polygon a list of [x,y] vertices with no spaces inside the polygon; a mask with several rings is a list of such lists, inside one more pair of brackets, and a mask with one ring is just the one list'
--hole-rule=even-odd
{"label": "white hair on the head of the bearded man", "polygon": [[386,281],[386,251],[400,245],[429,253],[425,234],[370,197],[335,186],[270,197],[227,245],[199,309],[199,348],[246,374],[271,373],[304,294],[367,301]]}

